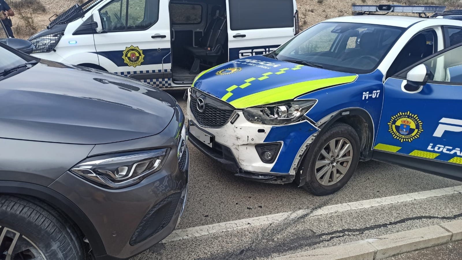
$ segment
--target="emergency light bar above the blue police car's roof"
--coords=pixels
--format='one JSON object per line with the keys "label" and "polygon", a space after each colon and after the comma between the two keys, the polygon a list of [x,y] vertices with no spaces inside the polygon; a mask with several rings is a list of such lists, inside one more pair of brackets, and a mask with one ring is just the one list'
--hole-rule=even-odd
{"label": "emergency light bar above the blue police car's roof", "polygon": [[444,12],[446,6],[401,6],[401,5],[353,5],[354,12],[413,12],[413,13],[426,13],[426,12]]}

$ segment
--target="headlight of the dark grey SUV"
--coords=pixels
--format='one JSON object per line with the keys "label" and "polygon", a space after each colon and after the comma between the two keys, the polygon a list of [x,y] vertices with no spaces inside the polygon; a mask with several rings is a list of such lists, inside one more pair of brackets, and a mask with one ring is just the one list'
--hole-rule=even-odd
{"label": "headlight of the dark grey SUV", "polygon": [[164,166],[170,149],[90,157],[70,171],[98,186],[123,188],[139,183]]}

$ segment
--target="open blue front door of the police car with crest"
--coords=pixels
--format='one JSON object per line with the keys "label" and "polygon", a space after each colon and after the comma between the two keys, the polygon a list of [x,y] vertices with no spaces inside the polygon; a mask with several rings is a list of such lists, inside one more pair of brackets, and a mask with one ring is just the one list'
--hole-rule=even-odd
{"label": "open blue front door of the police car with crest", "polygon": [[462,178],[462,44],[385,81],[374,158]]}

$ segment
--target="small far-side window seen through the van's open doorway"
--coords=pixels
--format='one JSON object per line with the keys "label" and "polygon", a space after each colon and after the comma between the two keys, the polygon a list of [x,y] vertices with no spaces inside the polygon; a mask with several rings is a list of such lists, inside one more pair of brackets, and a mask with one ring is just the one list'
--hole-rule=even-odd
{"label": "small far-side window seen through the van's open doorway", "polygon": [[202,6],[194,4],[170,4],[173,25],[197,25],[202,22]]}

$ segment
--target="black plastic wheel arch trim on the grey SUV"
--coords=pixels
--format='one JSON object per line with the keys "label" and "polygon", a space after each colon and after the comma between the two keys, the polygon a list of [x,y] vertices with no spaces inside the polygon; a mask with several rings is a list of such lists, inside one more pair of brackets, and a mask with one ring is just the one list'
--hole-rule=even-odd
{"label": "black plastic wheel arch trim on the grey SUV", "polygon": [[90,243],[91,250],[95,256],[105,255],[106,250],[103,241],[97,230],[86,217],[85,213],[80,210],[72,201],[47,187],[18,182],[18,181],[0,181],[0,194],[25,195],[42,200],[44,203],[59,209],[64,217],[73,221]]}

